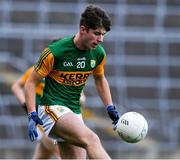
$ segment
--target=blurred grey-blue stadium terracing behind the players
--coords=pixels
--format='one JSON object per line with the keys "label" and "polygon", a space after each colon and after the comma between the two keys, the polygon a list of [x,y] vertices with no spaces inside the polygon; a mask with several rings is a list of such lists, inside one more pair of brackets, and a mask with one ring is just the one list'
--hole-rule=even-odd
{"label": "blurred grey-blue stadium terracing behind the players", "polygon": [[97,95],[85,88],[85,121],[112,158],[180,158],[180,0],[0,0],[0,158],[32,158],[27,116],[12,83],[54,38],[74,35],[88,3],[110,14],[106,76],[120,113],[149,124],[137,144],[123,142]]}

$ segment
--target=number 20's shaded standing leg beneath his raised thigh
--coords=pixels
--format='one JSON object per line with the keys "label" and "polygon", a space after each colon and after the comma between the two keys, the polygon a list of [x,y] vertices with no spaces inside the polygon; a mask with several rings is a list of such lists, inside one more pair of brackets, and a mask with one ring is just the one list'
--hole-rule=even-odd
{"label": "number 20's shaded standing leg beneath his raised thigh", "polygon": [[67,142],[58,143],[62,159],[86,159],[86,151]]}

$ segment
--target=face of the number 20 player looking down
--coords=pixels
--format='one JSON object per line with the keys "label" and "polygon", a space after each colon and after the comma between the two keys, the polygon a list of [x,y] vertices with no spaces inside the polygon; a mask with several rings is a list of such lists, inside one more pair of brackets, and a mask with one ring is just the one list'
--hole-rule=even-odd
{"label": "face of the number 20 player looking down", "polygon": [[82,34],[82,46],[85,49],[95,49],[96,46],[103,42],[106,30],[104,28],[87,29]]}

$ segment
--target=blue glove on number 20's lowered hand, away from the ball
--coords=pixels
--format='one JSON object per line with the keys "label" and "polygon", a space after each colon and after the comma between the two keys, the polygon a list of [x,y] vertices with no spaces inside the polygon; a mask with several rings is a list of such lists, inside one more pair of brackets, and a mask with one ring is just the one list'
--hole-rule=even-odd
{"label": "blue glove on number 20's lowered hand, away from the ball", "polygon": [[37,129],[36,129],[36,125],[40,124],[43,125],[42,120],[38,117],[37,112],[31,112],[28,115],[29,118],[29,124],[28,124],[28,134],[29,134],[29,138],[31,141],[35,141],[38,133],[37,133]]}

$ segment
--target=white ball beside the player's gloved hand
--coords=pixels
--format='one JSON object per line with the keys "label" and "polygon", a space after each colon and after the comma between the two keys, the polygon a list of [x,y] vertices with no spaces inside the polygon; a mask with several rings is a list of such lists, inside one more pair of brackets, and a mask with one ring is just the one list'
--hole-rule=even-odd
{"label": "white ball beside the player's gloved hand", "polygon": [[140,113],[127,112],[120,117],[116,131],[124,141],[137,143],[146,137],[148,124]]}

